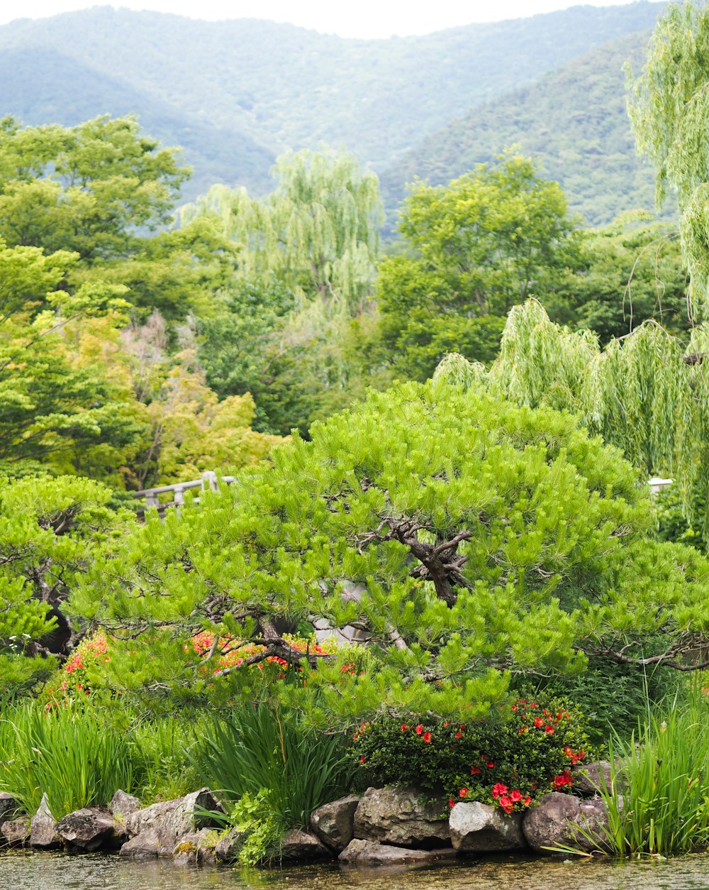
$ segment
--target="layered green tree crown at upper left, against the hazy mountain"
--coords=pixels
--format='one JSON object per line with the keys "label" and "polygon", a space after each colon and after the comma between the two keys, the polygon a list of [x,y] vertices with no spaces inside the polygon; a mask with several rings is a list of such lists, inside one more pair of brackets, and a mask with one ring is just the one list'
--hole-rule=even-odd
{"label": "layered green tree crown at upper left, against the hazy mountain", "polygon": [[0,232],[11,246],[68,250],[96,263],[170,218],[189,170],[142,136],[135,117],[75,127],[0,124]]}

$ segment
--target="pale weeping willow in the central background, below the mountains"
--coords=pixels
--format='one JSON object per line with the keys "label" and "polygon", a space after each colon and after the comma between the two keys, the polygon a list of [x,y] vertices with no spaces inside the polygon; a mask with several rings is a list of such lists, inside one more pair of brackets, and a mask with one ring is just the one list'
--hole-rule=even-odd
{"label": "pale weeping willow in the central background, below the mountains", "polygon": [[383,222],[376,175],[361,170],[356,158],[327,150],[289,152],[278,158],[274,175],[278,185],[267,198],[215,185],[181,209],[180,222],[216,217],[243,246],[246,274],[269,270],[305,296],[361,312]]}

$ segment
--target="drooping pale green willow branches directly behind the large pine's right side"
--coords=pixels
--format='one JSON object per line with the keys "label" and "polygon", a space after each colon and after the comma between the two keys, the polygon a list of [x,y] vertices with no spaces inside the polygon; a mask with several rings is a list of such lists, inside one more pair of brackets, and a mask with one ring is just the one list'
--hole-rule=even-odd
{"label": "drooping pale green willow branches directly behind the large pine's right side", "polygon": [[515,306],[489,369],[449,355],[434,380],[481,387],[520,405],[548,405],[580,417],[647,474],[671,474],[689,522],[709,540],[709,326],[689,352],[654,321],[601,349],[588,331],[549,320],[534,299]]}

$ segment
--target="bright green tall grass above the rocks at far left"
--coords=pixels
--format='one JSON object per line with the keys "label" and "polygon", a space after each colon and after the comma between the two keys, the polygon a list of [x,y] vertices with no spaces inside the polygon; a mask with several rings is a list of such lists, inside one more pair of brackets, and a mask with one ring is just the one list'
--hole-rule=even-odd
{"label": "bright green tall grass above the rocks at far left", "polygon": [[0,713],[0,790],[28,813],[43,793],[59,819],[143,781],[140,752],[88,705],[47,711],[28,702]]}

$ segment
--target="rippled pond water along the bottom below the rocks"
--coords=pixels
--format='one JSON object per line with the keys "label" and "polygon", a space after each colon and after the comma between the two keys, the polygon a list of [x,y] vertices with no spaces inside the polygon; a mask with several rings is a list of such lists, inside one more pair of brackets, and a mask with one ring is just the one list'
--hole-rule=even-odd
{"label": "rippled pond water along the bottom below the rocks", "polygon": [[498,857],[447,866],[371,870],[332,866],[277,870],[126,862],[117,856],[0,855],[3,890],[705,890],[709,854],[671,860],[560,860]]}

